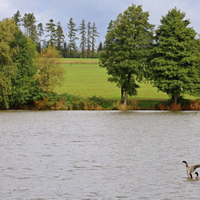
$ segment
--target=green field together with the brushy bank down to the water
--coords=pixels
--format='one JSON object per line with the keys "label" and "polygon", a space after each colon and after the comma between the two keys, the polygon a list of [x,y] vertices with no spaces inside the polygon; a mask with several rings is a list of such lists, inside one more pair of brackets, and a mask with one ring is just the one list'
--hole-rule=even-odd
{"label": "green field together with the brushy bank down to the water", "polygon": [[128,106],[120,102],[120,88],[108,82],[106,69],[100,68],[98,59],[61,58],[65,69],[62,87],[55,89],[43,100],[35,102],[32,110],[200,110],[195,97],[188,99],[178,107],[169,101],[169,97],[158,92],[151,84],[140,83],[138,94],[129,97]]}

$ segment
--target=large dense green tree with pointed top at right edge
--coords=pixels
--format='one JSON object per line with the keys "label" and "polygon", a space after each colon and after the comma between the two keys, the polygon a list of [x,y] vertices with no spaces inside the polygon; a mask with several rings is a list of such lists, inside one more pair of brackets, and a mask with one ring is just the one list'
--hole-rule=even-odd
{"label": "large dense green tree with pointed top at right edge", "polygon": [[177,104],[182,94],[195,94],[200,88],[200,52],[197,33],[188,27],[185,13],[177,8],[161,19],[156,30],[149,75],[158,90]]}

